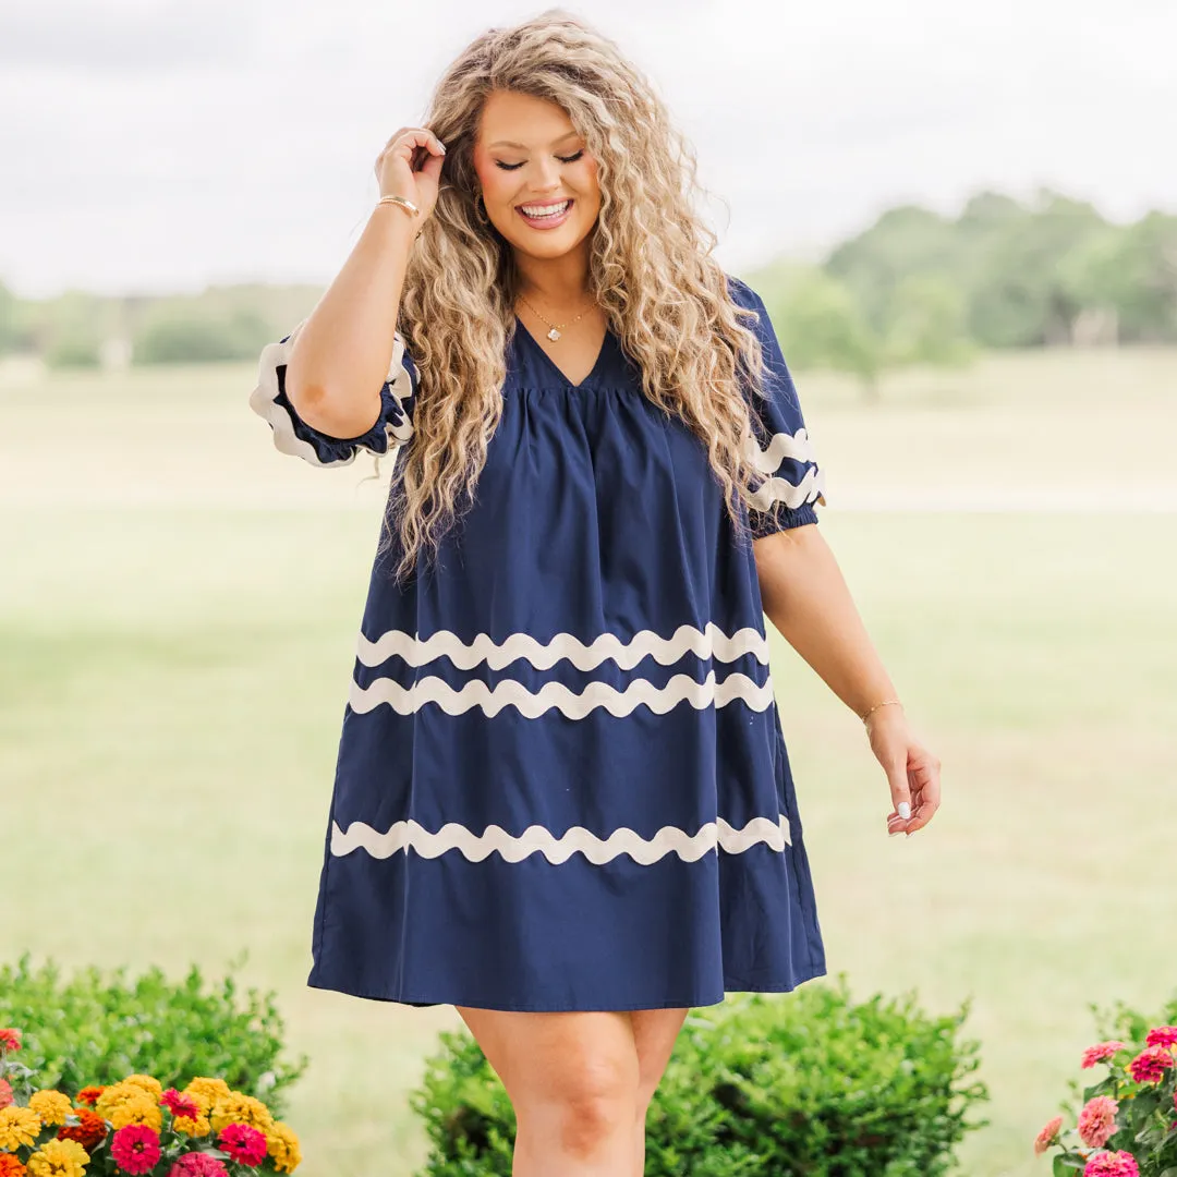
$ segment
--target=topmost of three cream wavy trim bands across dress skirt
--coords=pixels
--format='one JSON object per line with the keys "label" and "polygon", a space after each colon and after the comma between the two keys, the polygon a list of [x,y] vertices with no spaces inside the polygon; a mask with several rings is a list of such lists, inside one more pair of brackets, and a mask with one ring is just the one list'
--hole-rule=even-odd
{"label": "topmost of three cream wavy trim bands across dress skirt", "polygon": [[483,663],[491,670],[503,670],[520,658],[536,670],[551,670],[561,659],[567,659],[577,670],[594,670],[609,659],[621,670],[633,670],[646,657],[670,666],[687,653],[717,661],[736,661],[744,654],[753,654],[766,666],[769,641],[752,626],[729,636],[713,621],[703,630],[680,625],[669,638],[653,630],[639,630],[629,641],[616,633],[601,633],[588,644],[571,633],[557,633],[546,643],[530,633],[512,633],[500,643],[488,633],[479,633],[473,641],[466,643],[450,630],[438,630],[427,638],[418,638],[405,630],[387,630],[374,641],[360,633],[355,653],[365,666],[379,666],[394,656],[410,666],[445,657],[459,670],[472,670]]}

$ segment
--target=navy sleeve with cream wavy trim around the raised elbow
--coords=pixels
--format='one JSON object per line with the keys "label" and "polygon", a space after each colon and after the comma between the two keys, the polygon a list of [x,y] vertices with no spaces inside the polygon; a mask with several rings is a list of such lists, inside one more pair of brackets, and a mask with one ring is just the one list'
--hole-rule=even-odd
{"label": "navy sleeve with cream wavy trim around the raised elbow", "polygon": [[398,331],[388,374],[380,388],[380,415],[366,433],[335,438],[312,428],[294,411],[286,395],[286,365],[304,319],[284,339],[267,344],[258,364],[258,385],[250,394],[250,407],[270,423],[275,448],[302,458],[312,466],[347,466],[360,450],[394,453],[413,435],[413,406],[418,374]]}

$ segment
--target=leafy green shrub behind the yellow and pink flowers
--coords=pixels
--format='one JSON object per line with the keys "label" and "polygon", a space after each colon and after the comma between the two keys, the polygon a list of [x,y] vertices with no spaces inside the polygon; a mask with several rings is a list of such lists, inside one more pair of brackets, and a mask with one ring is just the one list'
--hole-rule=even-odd
{"label": "leafy green shrub behind the yellow and pink flowers", "polygon": [[285,1025],[274,995],[250,989],[239,1003],[234,967],[205,992],[197,965],[181,982],[158,967],[127,979],[126,967],[104,976],[91,966],[65,979],[53,960],[34,970],[26,952],[0,967],[0,1026],[22,1031],[20,1062],[38,1086],[73,1095],[140,1073],[182,1088],[207,1075],[264,1099],[277,1117],[308,1059],[278,1059]]}

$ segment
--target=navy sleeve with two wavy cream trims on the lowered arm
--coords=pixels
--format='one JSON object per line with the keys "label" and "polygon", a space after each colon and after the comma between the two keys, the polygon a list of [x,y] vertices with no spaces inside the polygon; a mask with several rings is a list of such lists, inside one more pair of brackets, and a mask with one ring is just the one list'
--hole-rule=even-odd
{"label": "navy sleeve with two wavy cream trims on the lowered arm", "polygon": [[816,504],[825,505],[825,472],[805,427],[800,400],[780,351],[780,343],[764,301],[746,282],[729,275],[732,299],[756,311],[756,324],[745,320],[760,340],[764,354],[764,395],[749,395],[752,432],[747,457],[760,480],[753,483],[747,519],[754,539],[789,527],[817,523]]}

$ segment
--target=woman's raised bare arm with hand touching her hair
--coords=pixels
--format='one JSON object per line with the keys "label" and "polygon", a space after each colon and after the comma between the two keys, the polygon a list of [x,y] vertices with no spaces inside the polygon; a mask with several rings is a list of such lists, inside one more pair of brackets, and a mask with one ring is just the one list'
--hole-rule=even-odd
{"label": "woman's raised bare arm with hand touching her hair", "polygon": [[[421,159],[420,171],[413,159]],[[380,194],[412,200],[420,215],[377,205],[311,314],[299,325],[286,368],[286,395],[312,428],[351,438],[380,414],[380,387],[395,343],[400,292],[417,234],[437,202],[445,148],[432,132],[403,128],[377,158]]]}

